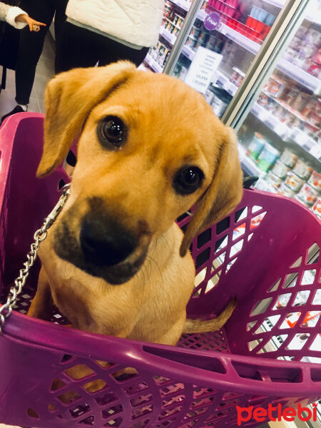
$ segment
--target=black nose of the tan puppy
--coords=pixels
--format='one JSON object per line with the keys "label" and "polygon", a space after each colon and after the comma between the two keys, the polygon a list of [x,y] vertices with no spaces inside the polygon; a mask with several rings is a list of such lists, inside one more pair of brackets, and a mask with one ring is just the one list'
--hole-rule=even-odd
{"label": "black nose of the tan puppy", "polygon": [[123,226],[93,216],[83,220],[80,244],[86,262],[98,266],[117,265],[136,248],[133,234]]}

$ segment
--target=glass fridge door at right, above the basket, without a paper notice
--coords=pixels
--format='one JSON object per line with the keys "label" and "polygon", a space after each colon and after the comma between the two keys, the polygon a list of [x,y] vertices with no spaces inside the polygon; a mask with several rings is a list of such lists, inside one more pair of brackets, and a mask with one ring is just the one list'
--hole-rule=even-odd
{"label": "glass fridge door at right, above the basket, without a paper notice", "polygon": [[307,14],[238,129],[256,187],[298,200],[321,218],[320,9]]}

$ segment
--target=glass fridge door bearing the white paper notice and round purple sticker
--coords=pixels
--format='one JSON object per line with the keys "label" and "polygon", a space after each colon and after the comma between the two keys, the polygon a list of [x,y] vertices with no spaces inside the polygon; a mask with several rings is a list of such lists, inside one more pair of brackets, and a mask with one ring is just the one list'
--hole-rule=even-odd
{"label": "glass fridge door bearing the white paper notice and round purple sticker", "polygon": [[214,113],[222,117],[280,7],[262,0],[193,1],[194,8],[195,4],[198,10],[184,27],[180,51],[175,61],[168,61],[165,72],[203,93]]}

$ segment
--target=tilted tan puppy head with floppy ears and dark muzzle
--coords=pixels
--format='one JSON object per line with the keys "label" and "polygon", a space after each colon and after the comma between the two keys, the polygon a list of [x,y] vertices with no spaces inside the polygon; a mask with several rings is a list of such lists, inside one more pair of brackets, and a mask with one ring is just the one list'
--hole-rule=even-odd
{"label": "tilted tan puppy head with floppy ears and dark muzzle", "polygon": [[46,88],[44,153],[51,173],[80,135],[71,203],[57,220],[56,254],[121,284],[151,241],[196,203],[180,255],[239,203],[235,136],[204,98],[170,76],[128,62],[76,68]]}

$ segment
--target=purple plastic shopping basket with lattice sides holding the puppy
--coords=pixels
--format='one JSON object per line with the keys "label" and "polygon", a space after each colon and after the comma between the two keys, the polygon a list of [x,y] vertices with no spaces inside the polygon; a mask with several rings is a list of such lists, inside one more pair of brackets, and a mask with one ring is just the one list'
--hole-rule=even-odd
{"label": "purple plastic shopping basket with lattice sides holding the puppy", "polygon": [[[34,231],[56,203],[59,181],[67,180],[62,168],[35,177],[43,121],[41,114],[21,113],[0,130],[2,302]],[[180,225],[187,222],[188,215]],[[197,275],[188,315],[213,317],[235,295],[238,307],[224,330],[183,335],[176,347],[26,317],[36,267],[0,335],[0,422],[233,428],[237,406],[297,407],[320,399],[320,230],[320,220],[299,203],[245,190],[230,216],[193,241]],[[68,368],[76,365],[90,374],[72,379]],[[119,375],[125,367],[137,374]],[[88,383],[95,379],[101,389],[91,392]],[[242,426],[260,423],[252,418]]]}

